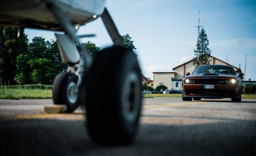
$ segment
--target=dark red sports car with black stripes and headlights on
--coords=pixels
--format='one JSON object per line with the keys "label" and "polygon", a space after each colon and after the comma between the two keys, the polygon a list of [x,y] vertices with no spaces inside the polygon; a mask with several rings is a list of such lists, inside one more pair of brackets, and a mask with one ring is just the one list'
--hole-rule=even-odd
{"label": "dark red sports car with black stripes and headlights on", "polygon": [[232,66],[198,66],[190,75],[186,73],[182,83],[182,100],[231,98],[232,102],[241,102],[241,77],[236,75]]}

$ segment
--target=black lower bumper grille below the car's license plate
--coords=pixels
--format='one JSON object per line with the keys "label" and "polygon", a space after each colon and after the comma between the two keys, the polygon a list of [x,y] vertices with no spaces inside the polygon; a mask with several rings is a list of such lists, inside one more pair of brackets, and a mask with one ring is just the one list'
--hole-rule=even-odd
{"label": "black lower bumper grille below the car's license plate", "polygon": [[186,90],[187,94],[197,95],[233,95],[233,90]]}

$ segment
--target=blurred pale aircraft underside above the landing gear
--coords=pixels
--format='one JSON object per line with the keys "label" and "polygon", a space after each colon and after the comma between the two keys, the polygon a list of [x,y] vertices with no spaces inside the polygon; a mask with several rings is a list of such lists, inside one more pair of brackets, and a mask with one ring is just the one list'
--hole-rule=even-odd
{"label": "blurred pale aircraft underside above the landing gear", "polygon": [[106,0],[1,0],[0,25],[63,31],[47,9],[54,3],[73,24],[85,24],[100,16]]}

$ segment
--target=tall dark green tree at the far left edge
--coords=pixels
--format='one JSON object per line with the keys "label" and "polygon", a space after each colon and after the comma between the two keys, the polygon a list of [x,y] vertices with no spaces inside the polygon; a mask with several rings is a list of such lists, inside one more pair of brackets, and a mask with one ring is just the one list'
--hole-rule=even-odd
{"label": "tall dark green tree at the far left edge", "polygon": [[28,39],[17,37],[17,28],[0,27],[0,77],[2,84],[16,84],[16,59],[21,53],[28,52]]}

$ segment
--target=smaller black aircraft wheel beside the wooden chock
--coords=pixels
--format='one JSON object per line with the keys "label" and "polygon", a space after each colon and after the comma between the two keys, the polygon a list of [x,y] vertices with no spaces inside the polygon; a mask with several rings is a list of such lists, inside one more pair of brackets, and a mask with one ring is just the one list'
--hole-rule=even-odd
{"label": "smaller black aircraft wheel beside the wooden chock", "polygon": [[70,101],[68,88],[70,84],[77,83],[77,76],[74,73],[59,73],[53,81],[52,97],[54,104],[64,104],[67,106],[67,113],[73,112],[79,106],[77,98],[75,101]]}

